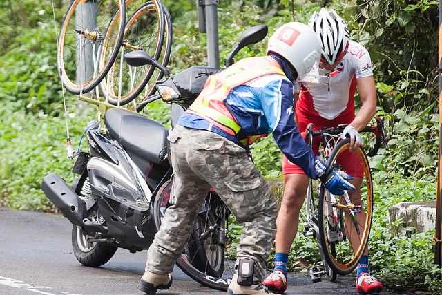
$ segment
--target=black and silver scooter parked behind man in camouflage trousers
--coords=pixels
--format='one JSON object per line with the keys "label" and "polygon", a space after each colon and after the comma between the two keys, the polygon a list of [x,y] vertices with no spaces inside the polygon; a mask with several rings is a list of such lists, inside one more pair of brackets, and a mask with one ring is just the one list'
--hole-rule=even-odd
{"label": "black and silver scooter parked behind man in camouflage trousers", "polygon": [[[246,30],[224,64],[244,46],[267,35],[267,26]],[[157,81],[160,89],[175,95],[153,95],[142,107],[156,99],[171,104],[171,126],[202,91],[207,77],[222,68],[191,67],[174,77],[158,61],[142,50],[125,55],[131,66],[153,64],[164,73]],[[164,93],[164,92],[163,92]],[[73,224],[74,254],[83,265],[99,267],[118,248],[135,253],[148,249],[169,204],[173,169],[169,160],[169,130],[133,111],[109,106],[104,125],[98,120],[86,128],[88,151],[81,151],[72,172],[72,185],[59,175],[46,175],[41,189]],[[211,190],[195,219],[191,237],[177,265],[202,285],[226,291],[234,274],[234,260],[224,249],[229,244],[229,209]]]}

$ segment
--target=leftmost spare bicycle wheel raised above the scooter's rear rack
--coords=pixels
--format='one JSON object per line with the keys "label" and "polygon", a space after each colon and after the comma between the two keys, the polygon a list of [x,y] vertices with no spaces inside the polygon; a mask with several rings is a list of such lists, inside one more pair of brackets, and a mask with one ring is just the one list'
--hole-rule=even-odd
{"label": "leftmost spare bicycle wheel raised above the scooter's rear rack", "polygon": [[[102,81],[117,57],[125,23],[122,0],[70,4],[57,44],[57,70],[67,91],[76,95],[88,93]],[[113,28],[112,34],[105,39],[109,27]],[[102,59],[103,66],[98,66],[97,53],[104,43],[109,54]]]}

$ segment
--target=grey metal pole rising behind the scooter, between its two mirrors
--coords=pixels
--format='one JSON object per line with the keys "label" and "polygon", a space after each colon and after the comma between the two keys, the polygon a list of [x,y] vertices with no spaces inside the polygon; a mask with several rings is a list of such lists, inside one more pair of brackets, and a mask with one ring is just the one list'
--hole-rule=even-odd
{"label": "grey metal pole rising behind the scooter, between its two mirrors", "polygon": [[209,66],[220,67],[220,45],[218,39],[218,10],[219,0],[198,1],[198,25],[200,32],[207,33],[207,59]]}

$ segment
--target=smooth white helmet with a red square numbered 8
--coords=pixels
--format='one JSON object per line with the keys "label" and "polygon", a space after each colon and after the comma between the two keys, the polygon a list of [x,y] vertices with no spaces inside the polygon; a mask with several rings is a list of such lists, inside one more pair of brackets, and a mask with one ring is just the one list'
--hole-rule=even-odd
{"label": "smooth white helmet with a red square numbered 8", "polygon": [[294,66],[298,75],[305,75],[319,61],[320,41],[304,23],[286,23],[269,38],[267,55],[269,52],[278,53]]}

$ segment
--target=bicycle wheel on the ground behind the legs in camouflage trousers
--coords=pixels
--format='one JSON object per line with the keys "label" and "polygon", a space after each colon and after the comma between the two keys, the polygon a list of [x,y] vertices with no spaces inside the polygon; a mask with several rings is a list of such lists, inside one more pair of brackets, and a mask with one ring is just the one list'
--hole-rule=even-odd
{"label": "bicycle wheel on the ground behind the legs in camouflage trousers", "polygon": [[[172,182],[169,180],[158,191],[153,206],[155,225],[160,229],[162,218],[169,206]],[[195,219],[191,236],[177,265],[198,283],[227,291],[233,274],[235,260],[225,256],[225,229],[229,210],[218,195],[209,192],[202,211]]]}

